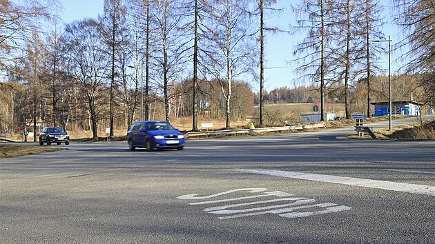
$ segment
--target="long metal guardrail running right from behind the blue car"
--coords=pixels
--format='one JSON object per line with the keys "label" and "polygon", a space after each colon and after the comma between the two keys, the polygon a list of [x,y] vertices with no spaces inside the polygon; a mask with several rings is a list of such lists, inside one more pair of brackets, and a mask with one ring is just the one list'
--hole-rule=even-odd
{"label": "long metal guardrail running right from behind the blue car", "polygon": [[184,136],[195,137],[195,136],[217,136],[217,135],[231,135],[231,134],[255,134],[262,132],[278,132],[286,130],[306,130],[306,129],[317,129],[326,128],[324,123],[318,123],[314,125],[291,125],[282,127],[271,127],[271,128],[255,128],[255,129],[241,129],[241,130],[211,130],[205,132],[187,132]]}

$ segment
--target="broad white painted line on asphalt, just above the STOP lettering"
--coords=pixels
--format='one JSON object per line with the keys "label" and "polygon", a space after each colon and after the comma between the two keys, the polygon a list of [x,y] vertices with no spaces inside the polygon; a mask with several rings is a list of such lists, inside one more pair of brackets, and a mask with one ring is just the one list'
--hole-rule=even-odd
{"label": "broad white painted line on asphalt, just above the STOP lettering", "polygon": [[326,174],[311,174],[303,172],[291,172],[282,170],[249,170],[249,169],[233,169],[238,172],[246,172],[252,174],[265,174],[270,176],[280,176],[292,179],[301,179],[308,181],[320,181],[327,183],[338,183],[342,185],[354,185],[360,187],[369,187],[383,190],[390,190],[395,192],[407,192],[412,194],[424,194],[435,196],[435,186],[432,185],[416,185],[408,183],[398,183],[392,181],[378,181],[370,179],[360,179],[345,176],[334,176]]}

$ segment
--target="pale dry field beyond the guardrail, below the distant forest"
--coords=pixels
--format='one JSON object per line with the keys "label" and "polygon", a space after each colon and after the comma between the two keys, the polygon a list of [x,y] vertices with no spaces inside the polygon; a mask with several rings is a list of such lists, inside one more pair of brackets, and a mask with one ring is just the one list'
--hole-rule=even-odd
{"label": "pale dry field beyond the guardrail, below the distant forest", "polygon": [[[276,109],[282,110],[288,114],[299,112],[300,114],[311,114],[313,112],[313,106],[318,105],[320,110],[320,104],[316,103],[278,103],[278,104],[267,104],[264,106],[265,109]],[[255,106],[258,108],[258,106]],[[325,112],[335,113],[336,116],[345,115],[345,104],[343,103],[326,103]]]}

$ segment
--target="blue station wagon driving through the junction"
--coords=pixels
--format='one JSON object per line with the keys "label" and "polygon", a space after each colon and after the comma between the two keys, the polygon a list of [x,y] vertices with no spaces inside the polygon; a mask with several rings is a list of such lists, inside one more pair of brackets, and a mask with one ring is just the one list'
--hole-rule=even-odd
{"label": "blue station wagon driving through the junction", "polygon": [[184,134],[166,121],[139,121],[131,125],[127,134],[130,150],[135,148],[177,149],[184,148]]}

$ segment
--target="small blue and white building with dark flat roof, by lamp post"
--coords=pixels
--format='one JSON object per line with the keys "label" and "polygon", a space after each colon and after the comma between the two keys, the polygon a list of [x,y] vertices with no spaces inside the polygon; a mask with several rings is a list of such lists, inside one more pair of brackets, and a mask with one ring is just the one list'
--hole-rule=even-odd
{"label": "small blue and white building with dark flat roof, by lamp post", "polygon": [[[375,105],[374,116],[383,116],[389,114],[389,103],[388,102],[378,102],[370,103]],[[409,116],[416,116],[420,114],[420,106],[423,103],[418,103],[415,101],[394,101],[392,102],[392,115],[402,114]]]}

